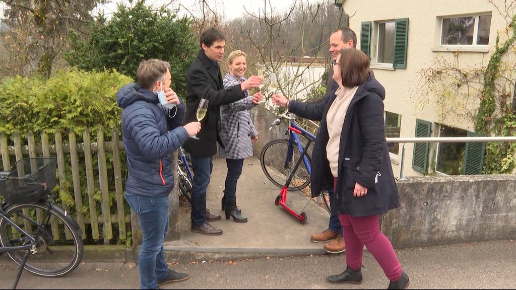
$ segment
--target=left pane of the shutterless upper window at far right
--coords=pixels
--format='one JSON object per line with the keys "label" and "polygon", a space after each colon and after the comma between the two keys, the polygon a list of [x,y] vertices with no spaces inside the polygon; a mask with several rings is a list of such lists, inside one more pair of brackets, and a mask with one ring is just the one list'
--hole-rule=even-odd
{"label": "left pane of the shutterless upper window at far right", "polygon": [[475,17],[443,19],[443,39],[441,44],[473,44]]}

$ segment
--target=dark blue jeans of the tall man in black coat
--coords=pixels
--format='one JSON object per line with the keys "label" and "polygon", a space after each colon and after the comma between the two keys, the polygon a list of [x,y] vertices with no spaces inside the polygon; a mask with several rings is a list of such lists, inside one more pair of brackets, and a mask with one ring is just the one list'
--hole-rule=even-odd
{"label": "dark blue jeans of the tall man in black coat", "polygon": [[202,225],[206,222],[206,189],[212,174],[213,157],[190,155],[190,160],[193,170],[191,219],[193,225]]}

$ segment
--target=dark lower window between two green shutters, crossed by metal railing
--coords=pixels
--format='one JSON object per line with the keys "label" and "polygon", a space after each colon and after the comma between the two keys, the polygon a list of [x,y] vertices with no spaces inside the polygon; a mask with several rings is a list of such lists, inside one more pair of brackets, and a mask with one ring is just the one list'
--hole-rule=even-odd
{"label": "dark lower window between two green shutters, crossed by metal railing", "polygon": [[[467,131],[441,125],[439,137],[466,137]],[[466,143],[439,143],[437,171],[448,175],[460,175],[460,165]]]}

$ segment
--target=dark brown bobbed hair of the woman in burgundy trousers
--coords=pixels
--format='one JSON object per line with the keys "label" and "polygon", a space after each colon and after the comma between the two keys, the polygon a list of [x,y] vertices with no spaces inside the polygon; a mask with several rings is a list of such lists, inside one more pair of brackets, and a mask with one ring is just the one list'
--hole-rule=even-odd
{"label": "dark brown bobbed hair of the woman in burgundy trousers", "polygon": [[361,50],[341,50],[341,59],[338,64],[341,66],[344,87],[358,87],[369,77],[369,58]]}

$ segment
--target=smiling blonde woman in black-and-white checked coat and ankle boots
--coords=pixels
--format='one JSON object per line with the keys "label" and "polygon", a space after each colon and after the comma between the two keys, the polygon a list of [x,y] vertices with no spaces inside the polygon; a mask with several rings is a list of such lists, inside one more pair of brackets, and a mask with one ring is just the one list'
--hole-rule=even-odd
{"label": "smiling blonde woman in black-and-white checked coat and ankle boots", "polygon": [[[227,73],[222,83],[224,88],[230,88],[246,80],[244,74],[247,69],[246,54],[236,50],[228,56],[229,73]],[[222,198],[222,211],[225,218],[236,222],[246,222],[244,216],[236,206],[236,183],[242,167],[244,158],[253,155],[252,142],[258,140],[258,132],[251,121],[249,110],[256,106],[262,99],[262,93],[257,92],[253,96],[244,91],[246,98],[221,107],[220,122],[222,131],[220,139],[223,146],[218,144],[220,157],[226,159],[228,165],[228,175],[224,186],[224,197]]]}

